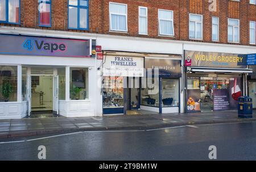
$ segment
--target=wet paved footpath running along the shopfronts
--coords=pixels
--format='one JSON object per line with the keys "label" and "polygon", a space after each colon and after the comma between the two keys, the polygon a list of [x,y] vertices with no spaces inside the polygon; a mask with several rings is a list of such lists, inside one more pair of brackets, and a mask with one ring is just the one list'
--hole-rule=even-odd
{"label": "wet paved footpath running along the shopfronts", "polygon": [[23,118],[0,120],[0,139],[77,131],[154,129],[181,125],[237,123],[256,121],[238,118],[237,111],[191,114],[116,115],[84,118]]}

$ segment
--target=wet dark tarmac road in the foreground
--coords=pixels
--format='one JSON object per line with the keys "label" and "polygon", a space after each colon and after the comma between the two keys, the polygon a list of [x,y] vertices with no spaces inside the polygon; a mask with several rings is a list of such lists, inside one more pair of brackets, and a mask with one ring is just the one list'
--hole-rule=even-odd
{"label": "wet dark tarmac road in the foreground", "polygon": [[40,145],[46,160],[209,160],[210,145],[217,160],[256,160],[255,122],[49,136],[0,140],[0,160],[38,160]]}

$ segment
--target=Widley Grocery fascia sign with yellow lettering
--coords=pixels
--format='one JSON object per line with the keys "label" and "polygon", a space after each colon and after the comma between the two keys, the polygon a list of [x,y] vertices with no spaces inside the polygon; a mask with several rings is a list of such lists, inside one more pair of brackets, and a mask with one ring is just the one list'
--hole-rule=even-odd
{"label": "Widley Grocery fascia sign with yellow lettering", "polygon": [[185,66],[246,69],[246,55],[217,52],[185,51]]}

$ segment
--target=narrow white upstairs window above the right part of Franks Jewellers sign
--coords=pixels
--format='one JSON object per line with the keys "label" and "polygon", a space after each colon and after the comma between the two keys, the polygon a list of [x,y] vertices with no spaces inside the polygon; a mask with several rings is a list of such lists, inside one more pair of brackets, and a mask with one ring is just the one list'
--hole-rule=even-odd
{"label": "narrow white upstairs window above the right part of Franks Jewellers sign", "polygon": [[139,7],[139,34],[147,35],[147,7]]}

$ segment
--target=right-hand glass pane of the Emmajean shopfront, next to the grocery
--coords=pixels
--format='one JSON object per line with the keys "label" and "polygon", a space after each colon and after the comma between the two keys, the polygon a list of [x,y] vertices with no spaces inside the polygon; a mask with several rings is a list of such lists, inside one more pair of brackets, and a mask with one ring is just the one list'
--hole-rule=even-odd
{"label": "right-hand glass pane of the Emmajean shopfront, next to the grocery", "polygon": [[179,106],[179,79],[162,79],[163,107]]}

